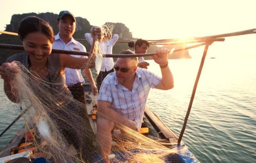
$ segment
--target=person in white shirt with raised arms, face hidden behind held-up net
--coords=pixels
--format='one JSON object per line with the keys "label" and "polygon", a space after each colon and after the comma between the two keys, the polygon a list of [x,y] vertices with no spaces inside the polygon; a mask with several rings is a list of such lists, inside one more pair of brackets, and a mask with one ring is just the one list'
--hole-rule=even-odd
{"label": "person in white shirt with raised arms, face hidden behind held-up net", "polygon": [[[115,43],[118,40],[118,35],[117,34],[108,34],[104,36],[107,40],[103,43],[100,42],[100,48],[101,52],[104,54],[112,54],[112,48],[115,45]],[[92,45],[92,34],[91,33],[85,33],[85,38],[88,41],[90,45]],[[103,79],[109,74],[114,72],[114,60],[111,57],[103,57],[102,59],[102,66],[101,66],[101,71],[99,72],[99,75],[97,76],[97,87],[98,87],[98,92],[101,87],[101,83]]]}

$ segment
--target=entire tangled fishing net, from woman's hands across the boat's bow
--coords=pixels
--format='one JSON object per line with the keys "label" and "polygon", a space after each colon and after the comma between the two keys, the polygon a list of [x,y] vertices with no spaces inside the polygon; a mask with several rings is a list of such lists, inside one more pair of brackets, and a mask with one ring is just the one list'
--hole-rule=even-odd
{"label": "entire tangled fishing net, from woman's hands across the boat's bow", "polygon": [[[103,35],[112,32],[111,28],[106,29],[108,30],[103,28]],[[97,42],[94,57],[99,53],[104,54]],[[93,59],[90,60],[92,61],[94,62]],[[99,63],[96,62],[96,66],[97,64]],[[55,163],[102,162],[105,158],[99,153],[100,146],[95,135],[91,134],[90,121],[85,118],[83,110],[79,109],[85,107],[85,104],[58,92],[54,89],[58,84],[40,79],[36,73],[27,70],[19,62],[13,62],[12,65],[11,69],[17,71],[15,74],[9,74],[14,76],[11,92],[15,95],[18,105],[27,108],[26,116],[22,117],[36,147],[34,154],[37,155],[34,157],[40,153],[40,156]],[[58,68],[49,68],[48,71],[58,71]],[[151,139],[119,124],[115,119],[103,114],[99,116],[115,123],[115,130],[112,133],[112,152],[107,156],[112,162],[171,162],[170,156],[187,151],[186,148],[178,147],[176,143]],[[109,138],[106,137],[107,139]],[[26,141],[29,141],[27,137]]]}

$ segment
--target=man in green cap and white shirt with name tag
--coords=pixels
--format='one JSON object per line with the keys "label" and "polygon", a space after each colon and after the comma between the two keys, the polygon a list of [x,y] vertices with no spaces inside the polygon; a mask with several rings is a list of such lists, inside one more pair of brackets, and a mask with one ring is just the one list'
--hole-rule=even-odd
{"label": "man in green cap and white shirt with name tag", "polygon": [[[72,35],[76,29],[76,19],[69,11],[61,11],[58,15],[57,26],[59,33],[54,36],[54,45],[52,48],[67,50],[67,51],[80,51],[86,52],[85,47],[78,41],[74,40]],[[72,57],[87,57],[81,55],[72,55]],[[97,87],[92,77],[91,70],[83,70],[85,76],[91,83],[91,88],[94,95],[97,93]],[[85,82],[81,75],[81,70],[66,68],[65,69],[66,85],[72,92],[74,99],[86,104],[85,93],[83,90],[83,83]],[[87,115],[87,114],[86,114]]]}

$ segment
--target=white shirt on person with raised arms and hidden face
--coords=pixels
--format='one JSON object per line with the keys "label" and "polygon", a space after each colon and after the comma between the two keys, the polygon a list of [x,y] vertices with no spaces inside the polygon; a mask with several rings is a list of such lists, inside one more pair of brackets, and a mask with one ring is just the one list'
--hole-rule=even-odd
{"label": "white shirt on person with raised arms and hidden face", "polygon": [[[85,33],[85,39],[90,45],[92,45],[92,35],[90,33]],[[118,40],[118,35],[113,34],[110,40],[106,40],[103,44],[100,42],[99,46],[103,54],[112,54],[112,48]],[[114,67],[114,60],[112,57],[103,57],[101,71],[109,71]]]}

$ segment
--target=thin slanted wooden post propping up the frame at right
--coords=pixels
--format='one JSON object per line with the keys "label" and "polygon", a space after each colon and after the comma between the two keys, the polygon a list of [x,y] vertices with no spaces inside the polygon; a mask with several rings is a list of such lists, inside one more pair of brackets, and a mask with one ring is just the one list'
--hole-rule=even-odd
{"label": "thin slanted wooden post propping up the frame at right", "polygon": [[194,100],[194,97],[195,97],[195,91],[196,91],[196,88],[198,86],[198,81],[199,81],[199,78],[200,78],[200,75],[201,75],[201,72],[202,72],[202,68],[204,66],[204,60],[205,60],[209,45],[211,45],[211,42],[207,42],[207,44],[205,45],[205,48],[204,48],[204,53],[203,53],[203,56],[202,56],[202,59],[201,59],[201,64],[200,64],[200,67],[199,67],[199,70],[198,70],[198,75],[195,79],[194,88],[193,88],[192,95],[191,95],[190,102],[189,102],[189,108],[186,112],[186,117],[184,119],[182,130],[180,132],[180,136],[179,136],[179,139],[178,139],[178,144],[180,144],[182,136],[183,136],[184,131],[186,129],[186,123],[189,119],[189,114],[190,114],[191,107],[192,107],[192,104],[193,104],[193,100]]}

